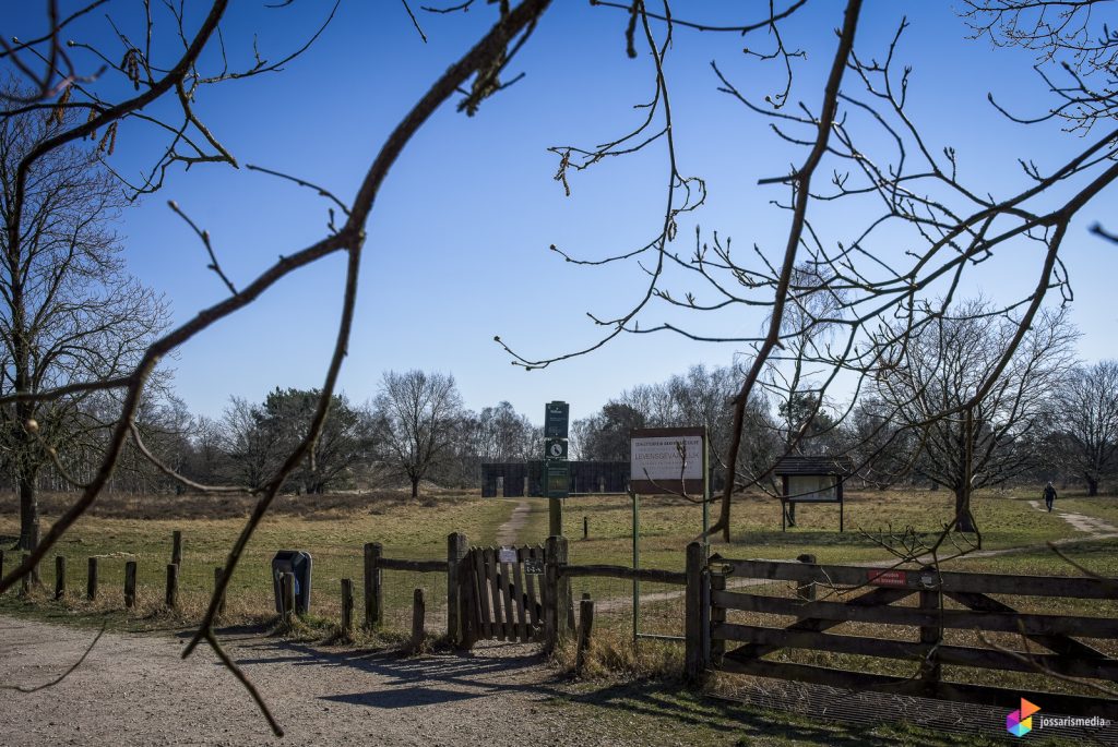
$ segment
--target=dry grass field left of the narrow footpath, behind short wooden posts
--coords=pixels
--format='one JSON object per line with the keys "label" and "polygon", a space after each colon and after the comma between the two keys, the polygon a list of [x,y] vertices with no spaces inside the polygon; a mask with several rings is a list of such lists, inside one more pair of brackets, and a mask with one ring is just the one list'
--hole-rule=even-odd
{"label": "dry grass field left of the narrow footpath, behind short wooden posts", "polygon": [[[205,507],[197,506],[195,499],[184,501],[186,510],[176,509],[171,497],[142,500],[140,510],[159,518],[120,518],[121,507],[108,501],[102,515],[84,517],[75,525],[51,554],[67,558],[69,593],[60,603],[39,595],[35,604],[38,611],[92,622],[100,622],[107,614],[112,625],[126,629],[183,625],[200,619],[214,588],[214,568],[225,565],[245,519],[199,518]],[[329,508],[316,514],[313,507],[320,500]],[[50,504],[54,502],[57,501],[53,499]],[[340,580],[352,578],[360,593],[364,543],[383,544],[385,555],[390,557],[445,558],[447,534],[465,531],[480,543],[491,544],[496,527],[508,519],[512,508],[512,504],[504,501],[452,496],[417,501],[396,495],[303,497],[301,501],[285,501],[280,513],[269,515],[260,525],[234,573],[226,597],[226,622],[260,622],[274,614],[271,559],[278,549],[305,549],[312,554],[312,620],[337,622],[341,609]],[[218,507],[215,513],[231,511]],[[18,526],[17,516],[10,513],[0,516],[0,535],[8,538],[6,546],[18,534]],[[184,550],[180,611],[172,614],[162,607],[174,530],[182,531]],[[94,556],[98,557],[100,590],[97,601],[91,603],[85,601],[86,559]],[[133,559],[138,563],[139,604],[133,612],[125,613],[124,563]],[[54,563],[46,563],[40,572],[45,586],[53,591]],[[386,575],[386,622],[390,626],[402,626],[416,586],[424,587],[430,600],[430,626],[435,629],[440,619],[445,620],[445,574]],[[357,605],[360,610],[360,598]],[[0,609],[9,611],[27,606],[11,594],[0,602]]]}

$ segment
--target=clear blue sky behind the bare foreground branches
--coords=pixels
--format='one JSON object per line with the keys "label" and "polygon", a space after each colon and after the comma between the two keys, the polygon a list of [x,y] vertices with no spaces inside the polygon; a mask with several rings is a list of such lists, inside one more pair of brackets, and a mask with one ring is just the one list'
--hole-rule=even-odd
{"label": "clear blue sky behind the bare foreground branches", "polygon": [[[330,7],[310,0],[278,10],[255,0],[233,4],[222,30],[234,65],[250,60],[254,31],[262,55],[275,59],[299,47]],[[480,2],[451,16],[432,16],[418,10],[420,2],[411,4],[427,44],[401,3],[343,0],[334,22],[287,69],[202,92],[199,115],[241,163],[299,175],[348,200],[387,133],[495,18]],[[19,7],[4,26],[35,32],[41,11],[32,3]],[[674,4],[678,16],[713,22],[728,20],[727,8]],[[111,4],[110,12],[122,27],[138,28],[132,4]],[[830,64],[841,12],[837,2],[808,3],[784,27],[786,44],[808,52],[797,68],[793,102],[817,108],[817,84]],[[913,66],[911,115],[935,147],[956,147],[965,176],[1007,194],[1026,183],[1016,164],[1020,155],[1051,166],[1082,144],[1058,126],[1022,127],[993,111],[987,92],[1023,106],[1048,104],[1029,56],[966,40],[947,3],[868,3],[859,54],[881,58],[902,13],[912,22],[899,48]],[[358,314],[341,380],[351,400],[373,396],[386,370],[425,368],[453,373],[473,409],[509,400],[540,421],[544,402],[567,400],[571,416],[579,418],[634,384],[662,381],[699,362],[727,364],[743,349],[667,334],[623,336],[589,356],[525,373],[493,343],[500,335],[529,357],[581,347],[600,332],[587,312],[619,313],[643,293],[643,275],[633,265],[579,268],[548,250],[556,243],[578,256],[600,257],[639,246],[659,231],[665,181],[661,145],[575,174],[570,198],[551,179],[558,160],[548,146],[585,146],[623,134],[639,116],[632,106],[648,98],[652,63],[646,54],[626,57],[625,22],[625,13],[558,0],[513,63],[512,73],[527,74],[523,80],[485,102],[472,118],[455,112],[453,103],[444,106],[409,143],[368,226]],[[113,44],[103,17],[75,27],[74,37]],[[695,222],[704,236],[711,230],[732,236],[741,250],[754,242],[773,252],[783,246],[788,214],[768,202],[785,195],[758,188],[757,180],[785,173],[803,153],[775,140],[765,119],[718,93],[710,68],[716,59],[745,93],[764,95],[779,87],[778,70],[747,58],[742,47],[769,45],[764,33],[743,41],[737,35],[676,30],[666,71],[680,165],[705,178],[710,192],[707,204],[681,224],[680,251],[693,240]],[[136,174],[160,142],[150,127],[122,130],[113,166]],[[117,228],[131,271],[164,294],[176,322],[222,298],[225,288],[206,269],[192,232],[167,208],[171,199],[210,231],[238,285],[325,231],[328,204],[310,191],[245,169],[172,167],[164,189],[125,211]],[[1114,193],[1105,193],[1074,226],[1063,252],[1076,290],[1072,319],[1083,334],[1079,349],[1087,360],[1118,354],[1110,332],[1118,320],[1111,304],[1118,259],[1112,246],[1086,230],[1114,212]],[[849,216],[822,214],[841,234]],[[1026,252],[983,268],[967,290],[1007,297],[1035,282],[1038,262],[1039,255]],[[342,280],[342,258],[329,259],[191,342],[171,362],[179,395],[193,411],[217,415],[230,395],[260,400],[275,386],[320,385]],[[674,318],[653,306],[642,326]],[[761,323],[760,315],[740,313],[692,318],[698,329],[726,334],[755,333]]]}

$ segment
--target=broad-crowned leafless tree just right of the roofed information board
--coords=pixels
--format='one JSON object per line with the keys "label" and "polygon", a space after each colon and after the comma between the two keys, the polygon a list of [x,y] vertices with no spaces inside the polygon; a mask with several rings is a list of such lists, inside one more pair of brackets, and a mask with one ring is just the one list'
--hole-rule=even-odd
{"label": "broad-crowned leafless tree just right of the roofed information board", "polygon": [[1054,420],[1053,394],[1074,362],[1077,335],[1065,315],[1042,313],[995,385],[975,398],[1018,324],[992,310],[984,301],[953,307],[903,344],[887,345],[881,357],[892,365],[874,381],[889,420],[917,434],[920,470],[955,491],[956,526],[965,531],[974,530],[970,492],[1035,461]]}

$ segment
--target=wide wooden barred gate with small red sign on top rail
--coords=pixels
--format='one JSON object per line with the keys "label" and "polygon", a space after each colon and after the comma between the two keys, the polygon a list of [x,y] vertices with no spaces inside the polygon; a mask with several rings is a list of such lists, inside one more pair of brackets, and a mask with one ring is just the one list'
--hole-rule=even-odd
{"label": "wide wooden barred gate with small red sign on top rail", "polygon": [[[1118,580],[738,561],[718,555],[699,573],[703,578],[694,612],[699,628],[688,642],[692,674],[712,667],[984,705],[1005,706],[1023,697],[1053,712],[1118,719],[1115,699],[972,684],[949,681],[942,673],[947,664],[1050,673],[1101,686],[1115,682],[1118,660],[1099,647],[1111,648],[1118,641],[1118,620],[1018,612],[1011,602],[1018,604],[1015,600],[1022,597],[1118,600]],[[746,581],[730,591],[731,580]],[[766,581],[792,582],[789,588],[797,593],[774,596],[750,591]],[[728,621],[732,611],[795,620],[773,626],[754,622],[759,620],[755,614],[749,623],[732,622]],[[846,623],[861,623],[863,634],[828,632]],[[965,634],[958,631],[976,632],[975,638],[979,633],[993,636],[1002,643],[960,645],[958,639]],[[907,639],[898,638],[906,634]],[[730,643],[739,645],[727,650]],[[904,660],[913,663],[915,671],[908,677],[878,674],[766,658],[789,650]]]}

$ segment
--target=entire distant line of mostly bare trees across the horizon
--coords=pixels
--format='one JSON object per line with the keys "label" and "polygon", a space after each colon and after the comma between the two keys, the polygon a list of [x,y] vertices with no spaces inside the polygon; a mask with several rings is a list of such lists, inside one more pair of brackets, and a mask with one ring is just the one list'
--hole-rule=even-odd
{"label": "entire distant line of mostly bare trees across the horizon", "polygon": [[[919,336],[903,360],[853,402],[821,400],[809,386],[790,398],[773,393],[750,402],[737,466],[742,481],[775,491],[773,465],[785,454],[807,454],[849,460],[856,479],[882,489],[925,485],[958,495],[965,488],[1057,479],[1097,495],[1118,477],[1118,361],[1076,361],[1076,335],[1062,315],[1052,314],[1034,325],[1002,384],[979,406],[929,419],[929,412],[966,399],[991,364],[997,336],[1012,326],[966,310]],[[631,429],[705,425],[712,465],[724,468],[731,435],[727,403],[742,375],[740,365],[699,364],[664,382],[626,390],[574,421],[571,458],[627,461]],[[153,466],[160,463],[201,485],[259,489],[302,438],[320,394],[276,387],[263,402],[234,396],[219,418],[209,418],[191,415],[165,389],[141,409],[138,421],[157,460],[133,447],[110,489],[188,489]],[[95,468],[96,439],[83,423],[96,422],[96,413],[83,414],[73,422],[84,447],[46,463],[38,487],[70,489],[67,477],[79,481]],[[473,411],[464,406],[453,375],[389,371],[364,403],[332,395],[322,433],[284,489],[322,494],[402,483],[416,497],[425,481],[472,488],[482,463],[541,454],[541,428],[509,402]],[[9,463],[8,473],[17,480],[18,466]],[[964,485],[967,475],[969,486]]]}

